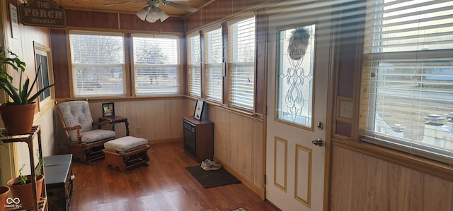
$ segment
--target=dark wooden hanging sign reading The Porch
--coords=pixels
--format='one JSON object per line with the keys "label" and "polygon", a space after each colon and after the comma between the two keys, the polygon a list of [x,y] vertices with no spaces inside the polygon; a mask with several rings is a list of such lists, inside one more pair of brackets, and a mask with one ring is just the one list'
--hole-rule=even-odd
{"label": "dark wooden hanging sign reading The Porch", "polygon": [[52,0],[30,0],[19,6],[23,25],[64,27],[66,11]]}

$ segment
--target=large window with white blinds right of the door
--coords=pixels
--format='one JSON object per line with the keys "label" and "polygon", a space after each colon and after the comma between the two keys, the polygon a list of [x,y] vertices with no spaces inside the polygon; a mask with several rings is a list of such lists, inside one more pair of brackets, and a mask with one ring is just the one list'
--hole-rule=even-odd
{"label": "large window with white blinds right of the door", "polygon": [[453,1],[368,1],[363,140],[453,164]]}

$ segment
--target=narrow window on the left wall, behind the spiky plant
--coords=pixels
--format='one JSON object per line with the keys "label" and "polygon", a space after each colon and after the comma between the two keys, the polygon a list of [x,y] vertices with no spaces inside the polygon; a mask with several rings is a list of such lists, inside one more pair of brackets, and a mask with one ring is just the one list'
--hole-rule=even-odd
{"label": "narrow window on the left wall, behind the spiky plant", "polygon": [[[48,54],[45,47],[35,43],[35,65],[36,71],[38,72],[38,90],[42,90],[42,88],[50,85]],[[40,102],[43,102],[50,97],[50,89],[47,89],[40,94],[39,100]]]}

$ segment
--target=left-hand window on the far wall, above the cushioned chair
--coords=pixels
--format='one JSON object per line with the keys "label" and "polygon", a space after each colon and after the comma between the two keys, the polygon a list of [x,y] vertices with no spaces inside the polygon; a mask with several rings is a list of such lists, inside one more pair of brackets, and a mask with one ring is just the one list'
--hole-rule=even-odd
{"label": "left-hand window on the far wall, above the cushioned chair", "polygon": [[125,47],[119,33],[71,31],[74,96],[125,96]]}

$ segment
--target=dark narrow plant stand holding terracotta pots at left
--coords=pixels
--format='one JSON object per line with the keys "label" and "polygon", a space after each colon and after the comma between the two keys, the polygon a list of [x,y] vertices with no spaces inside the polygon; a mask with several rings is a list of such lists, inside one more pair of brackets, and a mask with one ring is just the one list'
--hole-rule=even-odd
{"label": "dark narrow plant stand holding terracotta pots at left", "polygon": [[[28,152],[30,153],[30,169],[32,175],[32,187],[33,187],[33,199],[35,203],[33,204],[33,210],[35,211],[43,211],[47,210],[47,190],[45,187],[45,179],[42,184],[42,193],[41,195],[36,195],[36,178],[35,176],[35,157],[33,154],[33,139],[38,136],[38,147],[40,157],[42,157],[42,147],[41,147],[41,127],[40,126],[33,126],[30,133],[25,133],[21,135],[11,135],[5,129],[1,130],[0,140],[4,143],[15,143],[15,142],[25,142],[28,144]],[[41,169],[41,174],[44,175],[44,167]],[[6,210],[17,210],[15,208],[8,208]]]}

